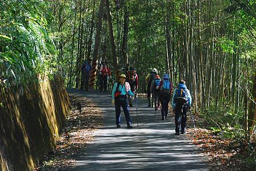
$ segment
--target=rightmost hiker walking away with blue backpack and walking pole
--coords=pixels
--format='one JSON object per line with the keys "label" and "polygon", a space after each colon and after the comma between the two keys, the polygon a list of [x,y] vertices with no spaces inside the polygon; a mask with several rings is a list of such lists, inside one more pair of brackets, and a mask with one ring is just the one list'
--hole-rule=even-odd
{"label": "rightmost hiker walking away with blue backpack and walking pole", "polygon": [[187,110],[191,107],[191,94],[185,85],[185,81],[180,81],[174,90],[172,97],[172,108],[175,110],[175,135],[186,134]]}

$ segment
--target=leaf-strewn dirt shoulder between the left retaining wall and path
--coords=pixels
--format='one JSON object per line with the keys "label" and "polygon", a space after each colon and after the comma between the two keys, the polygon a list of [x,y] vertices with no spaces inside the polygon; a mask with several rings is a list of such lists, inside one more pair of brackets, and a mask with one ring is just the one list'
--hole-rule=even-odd
{"label": "leaf-strewn dirt shoulder between the left retaining wall and path", "polygon": [[100,109],[90,99],[69,94],[71,113],[55,151],[45,155],[34,171],[68,170],[75,166],[73,155],[83,151],[93,140],[93,132],[102,126]]}

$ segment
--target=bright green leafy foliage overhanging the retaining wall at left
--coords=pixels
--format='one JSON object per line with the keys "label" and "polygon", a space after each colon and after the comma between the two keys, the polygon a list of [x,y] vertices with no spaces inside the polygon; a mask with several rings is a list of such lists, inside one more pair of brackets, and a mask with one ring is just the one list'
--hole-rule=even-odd
{"label": "bright green leafy foliage overhanging the retaining wall at left", "polygon": [[55,71],[48,35],[48,5],[42,1],[3,1],[0,7],[0,78],[6,86],[26,84]]}

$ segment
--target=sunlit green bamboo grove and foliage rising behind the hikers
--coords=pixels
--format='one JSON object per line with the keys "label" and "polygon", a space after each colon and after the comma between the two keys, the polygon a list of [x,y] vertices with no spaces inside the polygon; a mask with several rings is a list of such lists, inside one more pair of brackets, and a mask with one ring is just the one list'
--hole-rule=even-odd
{"label": "sunlit green bamboo grove and foliage rising behind the hikers", "polygon": [[78,88],[86,59],[96,65],[106,60],[114,74],[125,72],[129,62],[137,69],[142,93],[152,68],[161,76],[170,73],[174,85],[181,79],[187,82],[193,109],[210,126],[232,127],[241,139],[253,135],[254,0],[0,0],[0,4],[2,85],[22,91],[31,80],[57,74],[67,87]]}

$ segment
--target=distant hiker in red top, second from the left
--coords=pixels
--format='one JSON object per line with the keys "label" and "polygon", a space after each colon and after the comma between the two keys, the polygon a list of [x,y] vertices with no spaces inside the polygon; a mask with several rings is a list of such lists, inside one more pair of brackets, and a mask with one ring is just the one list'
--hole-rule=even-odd
{"label": "distant hiker in red top, second from the left", "polygon": [[108,77],[111,78],[111,73],[106,61],[102,61],[100,68],[100,91],[104,91],[108,88]]}

